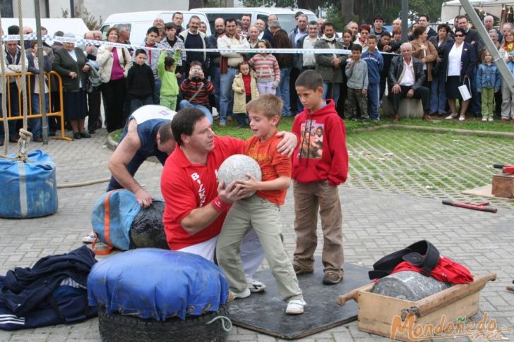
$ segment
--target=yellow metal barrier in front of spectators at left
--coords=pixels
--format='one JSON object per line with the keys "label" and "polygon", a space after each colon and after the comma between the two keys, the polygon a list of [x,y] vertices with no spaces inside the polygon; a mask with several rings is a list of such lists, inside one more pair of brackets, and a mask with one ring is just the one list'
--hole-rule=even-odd
{"label": "yellow metal barrier in front of spectators at left", "polygon": [[[40,100],[40,112],[39,113],[32,113],[32,78],[29,76],[34,76],[36,74],[34,73],[27,73],[27,118],[42,118],[41,109],[43,109],[42,101],[43,97],[41,94],[44,94],[44,90],[40,90],[40,96],[38,97]],[[7,101],[7,120],[8,121],[16,121],[16,120],[23,120],[23,101],[22,101],[22,90],[20,89],[21,85],[21,73],[11,73],[8,75],[5,75],[7,78],[6,80],[6,101]],[[50,71],[49,73],[44,73],[45,80],[48,86],[48,108],[49,111],[47,112],[46,116],[47,118],[56,117],[59,118],[59,125],[61,126],[61,135],[53,137],[54,139],[60,139],[60,140],[73,140],[72,138],[66,137],[65,130],[64,130],[64,101],[63,101],[63,87],[62,87],[62,79],[61,76],[56,73],[55,71]],[[18,114],[16,116],[13,116],[13,112],[16,113],[16,111],[13,111],[12,104],[11,104],[11,87],[9,84],[11,83],[11,79],[16,78],[13,82],[16,82],[18,85]],[[35,80],[35,78],[34,78]],[[59,102],[59,110],[52,111],[52,107],[54,107],[52,104],[52,87],[54,86],[54,83],[56,83],[57,91],[59,92],[59,99],[56,99]],[[37,83],[39,85],[39,83]],[[4,94],[3,94],[4,95]],[[45,107],[46,109],[46,107]],[[1,107],[0,107],[1,110]],[[3,125],[2,122],[4,121],[5,115],[0,116],[0,126]],[[43,128],[45,129],[45,128]]]}

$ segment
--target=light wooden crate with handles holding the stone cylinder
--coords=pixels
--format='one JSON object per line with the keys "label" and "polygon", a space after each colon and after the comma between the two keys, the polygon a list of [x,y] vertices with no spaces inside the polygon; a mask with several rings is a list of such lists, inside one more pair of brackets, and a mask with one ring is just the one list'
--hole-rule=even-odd
{"label": "light wooden crate with handles holding the stone cylinder", "polygon": [[[477,314],[479,291],[496,274],[475,276],[473,283],[455,285],[416,302],[371,293],[373,284],[354,289],[337,298],[339,305],[356,300],[359,305],[359,330],[400,341],[424,341],[441,338],[436,327],[447,324],[467,325]],[[421,334],[419,334],[421,332]],[[439,336],[437,336],[439,335]]]}

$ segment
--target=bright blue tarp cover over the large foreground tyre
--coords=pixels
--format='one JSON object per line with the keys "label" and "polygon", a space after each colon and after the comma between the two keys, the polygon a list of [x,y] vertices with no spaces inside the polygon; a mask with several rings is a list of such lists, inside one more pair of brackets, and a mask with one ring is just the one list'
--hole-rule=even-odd
{"label": "bright blue tarp cover over the large foreground tyre", "polygon": [[215,312],[227,303],[228,293],[227,279],[213,262],[157,248],[103,259],[88,276],[90,305],[157,321]]}

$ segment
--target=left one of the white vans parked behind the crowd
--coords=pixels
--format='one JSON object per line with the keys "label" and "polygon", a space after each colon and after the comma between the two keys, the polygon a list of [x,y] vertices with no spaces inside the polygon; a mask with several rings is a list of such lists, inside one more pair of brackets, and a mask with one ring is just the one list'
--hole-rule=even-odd
{"label": "left one of the white vans parked behind the crowd", "polygon": [[[128,25],[128,27],[131,30],[131,43],[135,45],[143,44],[146,37],[146,31],[153,26],[153,20],[155,20],[155,18],[162,18],[162,20],[164,20],[165,23],[169,23],[172,21],[172,16],[175,12],[177,11],[145,11],[112,14],[109,17],[107,17],[107,20],[105,20],[105,22],[103,23],[102,28],[100,28],[100,31],[102,31],[102,35],[105,39],[109,28],[112,28],[116,25]],[[184,26],[184,28],[186,28],[187,23],[189,23],[189,19],[191,18],[191,16],[198,16],[200,20],[204,23],[208,22],[205,13],[201,13],[198,11],[179,12],[184,14],[184,23],[182,23],[182,26]],[[209,36],[210,34],[210,27],[209,25],[207,25],[207,35]]]}

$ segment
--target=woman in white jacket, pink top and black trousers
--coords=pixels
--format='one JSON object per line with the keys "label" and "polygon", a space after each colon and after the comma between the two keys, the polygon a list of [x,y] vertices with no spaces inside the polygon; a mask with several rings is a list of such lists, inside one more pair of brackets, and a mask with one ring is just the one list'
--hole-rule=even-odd
{"label": "woman in white jacket, pink top and black trousers", "polygon": [[[118,42],[118,29],[107,31],[107,42]],[[106,105],[107,131],[124,127],[124,102],[126,96],[126,74],[132,66],[131,55],[126,48],[98,48],[97,63],[102,78],[102,94]]]}

